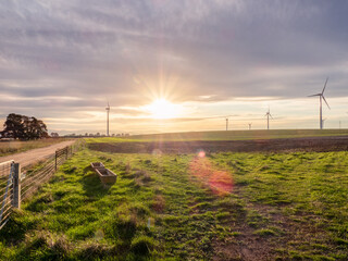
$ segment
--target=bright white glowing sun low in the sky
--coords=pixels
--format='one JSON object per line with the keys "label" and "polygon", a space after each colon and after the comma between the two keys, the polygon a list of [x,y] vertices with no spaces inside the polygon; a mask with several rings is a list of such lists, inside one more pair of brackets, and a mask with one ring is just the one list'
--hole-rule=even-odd
{"label": "bright white glowing sun low in the sky", "polygon": [[173,119],[181,111],[178,104],[173,104],[165,99],[157,99],[151,104],[146,107],[152,119]]}

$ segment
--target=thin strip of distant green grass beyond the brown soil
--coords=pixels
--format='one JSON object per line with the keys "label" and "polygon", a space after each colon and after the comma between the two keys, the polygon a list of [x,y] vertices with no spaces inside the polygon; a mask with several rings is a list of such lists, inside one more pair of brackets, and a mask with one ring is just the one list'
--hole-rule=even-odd
{"label": "thin strip of distant green grass beyond the brown soil", "polygon": [[87,138],[87,142],[130,142],[130,141],[188,141],[188,140],[247,140],[299,138],[348,135],[348,129],[270,129],[270,130],[228,130],[228,132],[192,132],[134,135],[125,138],[104,137]]}

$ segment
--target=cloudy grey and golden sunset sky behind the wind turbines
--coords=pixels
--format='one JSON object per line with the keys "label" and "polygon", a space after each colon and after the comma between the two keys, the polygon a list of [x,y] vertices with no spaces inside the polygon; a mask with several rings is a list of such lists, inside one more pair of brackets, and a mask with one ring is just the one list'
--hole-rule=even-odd
{"label": "cloudy grey and golden sunset sky behind the wind turbines", "polygon": [[0,124],[49,132],[348,128],[344,0],[0,2]]}

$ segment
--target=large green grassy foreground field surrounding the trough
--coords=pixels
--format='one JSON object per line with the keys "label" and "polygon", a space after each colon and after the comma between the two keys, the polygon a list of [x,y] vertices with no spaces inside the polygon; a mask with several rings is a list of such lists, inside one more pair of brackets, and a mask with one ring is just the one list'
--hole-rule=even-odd
{"label": "large green grassy foreground field surrounding the trough", "polygon": [[0,232],[0,259],[347,260],[347,169],[348,152],[84,150]]}

